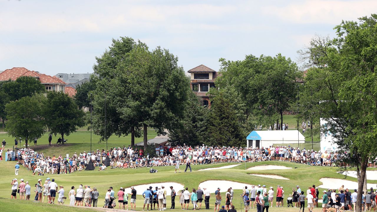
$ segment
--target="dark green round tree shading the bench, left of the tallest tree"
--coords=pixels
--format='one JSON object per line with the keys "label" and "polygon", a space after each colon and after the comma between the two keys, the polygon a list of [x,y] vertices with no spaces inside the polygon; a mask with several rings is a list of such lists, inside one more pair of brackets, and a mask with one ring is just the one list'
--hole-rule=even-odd
{"label": "dark green round tree shading the bench, left of the tallest tree", "polygon": [[[47,103],[44,106],[46,124],[55,136],[69,135],[77,131],[77,127],[85,125],[84,112],[74,100],[63,92],[48,92]],[[62,142],[64,144],[64,142]]]}

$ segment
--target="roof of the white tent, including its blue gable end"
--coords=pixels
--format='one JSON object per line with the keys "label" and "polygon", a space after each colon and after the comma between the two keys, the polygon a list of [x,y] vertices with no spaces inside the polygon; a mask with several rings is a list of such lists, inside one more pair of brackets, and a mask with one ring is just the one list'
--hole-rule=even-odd
{"label": "roof of the white tent, including its blue gable end", "polygon": [[297,136],[300,141],[305,140],[305,137],[297,130],[253,131],[246,137],[246,140],[297,141]]}

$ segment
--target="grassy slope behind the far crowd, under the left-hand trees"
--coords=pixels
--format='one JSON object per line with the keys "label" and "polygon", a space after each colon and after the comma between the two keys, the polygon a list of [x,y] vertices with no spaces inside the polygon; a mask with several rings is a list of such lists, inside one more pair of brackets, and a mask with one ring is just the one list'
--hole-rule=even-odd
{"label": "grassy slope behind the far crowd, under the left-hand trees", "polygon": [[[90,151],[90,131],[87,131],[84,128],[81,128],[81,130],[78,130],[77,132],[74,132],[68,136],[64,136],[65,139],[68,139],[68,142],[66,145],[57,145],[57,139],[60,137],[57,135],[55,137],[52,136],[52,146],[48,146],[48,135],[49,132],[46,132],[41,138],[37,141],[37,146],[34,147],[34,141],[29,141],[29,146],[36,151],[43,152],[44,155],[64,155],[69,154],[73,155],[75,152],[78,154],[80,152],[84,151]],[[153,129],[148,129],[148,139],[156,137],[156,131]],[[7,134],[2,133],[0,134],[0,140],[2,141],[5,139],[7,146],[5,149],[11,149],[14,145],[14,138],[9,137]],[[98,143],[100,140],[100,136],[95,135],[92,133],[92,150],[96,149],[106,149],[106,142]],[[135,144],[143,141],[143,137],[135,138]],[[21,146],[23,147],[24,141],[22,142]],[[131,136],[128,135],[126,137],[118,137],[116,135],[112,135],[109,140],[107,141],[107,147],[110,149],[111,147],[120,147],[120,146],[128,146],[131,144]],[[20,146],[20,145],[19,145]]]}

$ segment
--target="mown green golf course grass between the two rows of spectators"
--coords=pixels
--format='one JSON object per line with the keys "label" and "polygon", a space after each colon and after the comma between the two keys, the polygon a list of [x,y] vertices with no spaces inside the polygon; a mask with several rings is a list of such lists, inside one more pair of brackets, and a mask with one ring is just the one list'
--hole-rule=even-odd
{"label": "mown green golf course grass between the two rows of spectators", "polygon": [[[75,186],[78,188],[80,184],[88,184],[91,188],[96,187],[100,193],[100,197],[98,199],[98,206],[102,207],[104,201],[104,194],[106,193],[106,189],[112,186],[116,192],[119,190],[119,187],[129,188],[130,186],[136,186],[141,184],[158,184],[162,182],[176,182],[184,185],[184,187],[188,187],[189,190],[192,188],[197,188],[198,185],[204,181],[208,180],[226,180],[226,181],[234,181],[241,184],[265,184],[267,187],[274,187],[279,184],[280,186],[284,187],[285,196],[288,197],[291,194],[291,191],[296,185],[299,185],[302,190],[306,190],[308,186],[315,184],[316,186],[322,184],[319,179],[320,178],[338,178],[343,179],[344,175],[337,173],[337,167],[321,167],[321,166],[307,166],[302,164],[290,163],[290,162],[282,162],[282,161],[265,161],[265,162],[256,162],[256,163],[241,163],[239,166],[234,166],[228,169],[213,169],[208,171],[200,171],[199,169],[205,168],[216,168],[221,166],[229,166],[229,165],[236,165],[238,163],[220,163],[220,164],[207,164],[207,165],[192,165],[192,172],[184,173],[184,166],[181,166],[182,173],[174,173],[173,166],[161,166],[155,167],[158,172],[154,174],[149,173],[149,168],[138,168],[138,169],[108,169],[106,171],[99,172],[98,169],[94,171],[81,171],[75,172],[73,174],[63,174],[63,175],[45,175],[45,176],[32,176],[31,171],[27,171],[25,168],[21,167],[19,171],[19,175],[17,179],[20,180],[24,178],[25,181],[29,181],[31,186],[34,186],[37,183],[38,178],[41,178],[43,181],[46,180],[47,177],[54,178],[58,185],[63,185],[65,189],[65,196],[67,197],[68,192],[71,186]],[[11,181],[15,177],[14,175],[14,165],[15,161],[1,161],[0,162],[0,170],[2,171],[2,175],[0,177],[0,197],[2,198],[9,198],[11,194]],[[291,169],[283,169],[283,170],[247,170],[253,166],[260,166],[260,165],[279,165],[279,166],[286,166],[290,167]],[[369,169],[368,169],[369,170]],[[254,176],[250,174],[270,174],[270,175],[279,175],[281,177],[288,178],[290,180],[277,180],[272,178],[265,178]],[[356,178],[347,177],[347,180],[357,181]],[[377,180],[368,180],[368,183],[376,184]],[[224,197],[227,187],[224,185],[219,184],[216,187],[221,188],[221,194]],[[34,187],[32,187],[34,189]],[[146,188],[147,189],[147,186]],[[170,189],[166,188],[169,194]],[[174,188],[176,191],[183,188]],[[241,198],[239,195],[242,193],[242,187],[233,187],[234,189],[234,205],[236,209],[241,211]],[[334,187],[332,189],[338,189]],[[353,189],[353,188],[352,188]],[[214,190],[210,190],[211,193]],[[139,193],[139,192],[138,192]],[[12,200],[3,200],[0,199],[0,211],[4,205],[9,205]],[[20,200],[13,200],[19,202]],[[46,200],[45,200],[46,201]],[[56,200],[55,200],[56,201]],[[179,197],[176,197],[176,209],[173,211],[181,210],[181,206],[178,203]],[[23,202],[23,201],[21,201]],[[215,198],[213,194],[211,194],[210,198],[210,208],[213,210]],[[141,195],[137,196],[136,201],[136,209],[141,210],[143,206],[143,197]],[[225,200],[222,201],[222,204],[225,203]],[[25,203],[25,207],[31,207],[31,209],[37,203]],[[66,202],[69,204],[69,201]],[[285,202],[286,204],[286,202]],[[65,211],[61,210],[60,207],[57,208],[57,205],[54,206],[47,206],[46,203],[42,204],[46,207],[46,211],[48,207],[52,207],[54,211]],[[170,208],[170,197],[167,198],[167,208]],[[204,206],[204,204],[203,204]],[[44,207],[43,210],[44,211]],[[189,208],[192,208],[190,205]],[[62,209],[65,209],[64,207]],[[70,209],[70,208],[69,208]],[[81,211],[82,209],[80,209]],[[255,210],[256,209],[252,209]],[[272,207],[270,210],[273,211],[295,211],[296,209],[286,208],[283,209],[276,209]],[[298,209],[297,209],[298,210]],[[14,210],[14,211],[23,211],[23,210]],[[78,211],[77,208],[73,208],[70,211]],[[316,211],[316,209],[314,209]],[[318,210],[319,211],[319,210]]]}

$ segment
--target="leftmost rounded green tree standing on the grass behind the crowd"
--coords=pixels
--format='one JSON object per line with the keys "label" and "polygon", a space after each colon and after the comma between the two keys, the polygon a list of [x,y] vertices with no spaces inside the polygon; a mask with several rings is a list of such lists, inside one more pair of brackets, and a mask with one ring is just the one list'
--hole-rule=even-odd
{"label": "leftmost rounded green tree standing on the grass behind the crowd", "polygon": [[43,95],[34,95],[11,101],[5,106],[5,131],[13,137],[24,138],[26,148],[29,139],[40,138],[46,130],[43,118],[45,102],[46,97]]}

